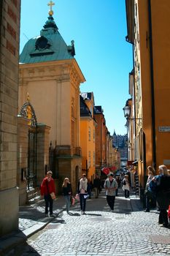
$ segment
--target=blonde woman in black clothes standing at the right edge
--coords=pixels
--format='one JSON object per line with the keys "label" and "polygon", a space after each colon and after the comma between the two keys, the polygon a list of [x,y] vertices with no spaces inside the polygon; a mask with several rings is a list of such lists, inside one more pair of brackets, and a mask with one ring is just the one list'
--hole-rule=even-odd
{"label": "blonde woman in black clothes standing at the right edge", "polygon": [[158,224],[163,227],[169,227],[168,208],[170,204],[170,176],[166,165],[159,165],[159,175],[152,178],[150,189],[156,195],[159,207]]}

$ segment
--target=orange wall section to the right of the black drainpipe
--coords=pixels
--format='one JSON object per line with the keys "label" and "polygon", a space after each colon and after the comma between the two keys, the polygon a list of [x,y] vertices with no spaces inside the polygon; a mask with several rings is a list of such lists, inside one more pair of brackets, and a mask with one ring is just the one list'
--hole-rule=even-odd
{"label": "orange wall section to the right of the black drainpipe", "polygon": [[170,2],[152,1],[152,44],[155,85],[155,131],[157,168],[165,160],[170,167],[170,132],[159,132],[158,127],[170,127]]}

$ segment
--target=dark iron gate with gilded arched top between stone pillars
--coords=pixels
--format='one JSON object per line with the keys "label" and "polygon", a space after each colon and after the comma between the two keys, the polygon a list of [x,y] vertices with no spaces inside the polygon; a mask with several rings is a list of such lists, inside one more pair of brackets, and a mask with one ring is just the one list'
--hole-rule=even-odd
{"label": "dark iron gate with gilded arched top between stone pillars", "polygon": [[37,165],[37,121],[34,108],[30,103],[29,96],[20,110],[20,116],[28,118],[28,167],[27,167],[27,190],[36,187]]}

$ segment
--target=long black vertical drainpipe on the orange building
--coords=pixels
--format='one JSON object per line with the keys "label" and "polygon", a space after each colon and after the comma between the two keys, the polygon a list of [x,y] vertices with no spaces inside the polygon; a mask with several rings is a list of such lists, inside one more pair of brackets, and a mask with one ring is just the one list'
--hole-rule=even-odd
{"label": "long black vertical drainpipe on the orange building", "polygon": [[152,108],[152,155],[153,167],[156,169],[156,141],[155,141],[155,94],[153,74],[153,51],[152,51],[152,11],[151,0],[148,0],[149,29],[150,29],[150,79],[151,79],[151,108]]}

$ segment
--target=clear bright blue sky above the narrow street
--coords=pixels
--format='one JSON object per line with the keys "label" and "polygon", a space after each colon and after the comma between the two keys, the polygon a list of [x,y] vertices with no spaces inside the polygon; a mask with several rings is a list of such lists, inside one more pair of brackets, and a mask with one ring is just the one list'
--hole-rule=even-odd
{"label": "clear bright blue sky above the narrow street", "polygon": [[[76,56],[86,82],[80,91],[93,91],[104,109],[109,132],[126,133],[123,107],[132,69],[132,47],[127,35],[125,0],[53,0],[53,18],[67,45],[74,39]],[[47,0],[22,0],[20,51],[45,25]]]}

